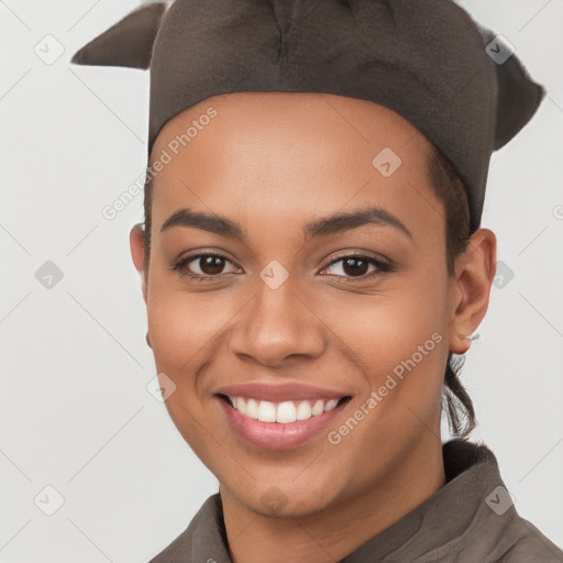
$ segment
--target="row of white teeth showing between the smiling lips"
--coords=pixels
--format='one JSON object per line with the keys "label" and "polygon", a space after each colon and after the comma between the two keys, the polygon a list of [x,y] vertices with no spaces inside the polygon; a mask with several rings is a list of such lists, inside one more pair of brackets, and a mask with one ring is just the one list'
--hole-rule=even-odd
{"label": "row of white teeth showing between the smiling lips", "polygon": [[339,404],[339,399],[316,401],[301,400],[294,402],[286,400],[283,402],[271,402],[269,400],[245,399],[243,397],[229,397],[234,409],[245,417],[261,420],[262,422],[279,422],[287,424],[296,420],[307,420],[311,417],[318,417],[323,412],[333,410]]}

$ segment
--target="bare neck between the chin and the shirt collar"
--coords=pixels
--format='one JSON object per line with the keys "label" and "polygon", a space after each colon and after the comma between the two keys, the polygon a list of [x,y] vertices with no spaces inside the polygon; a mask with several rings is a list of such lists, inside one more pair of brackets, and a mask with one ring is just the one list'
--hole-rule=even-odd
{"label": "bare neck between the chin and the shirt collar", "polygon": [[[421,441],[422,442],[422,441]],[[298,518],[251,510],[221,486],[233,563],[333,563],[420,506],[445,484],[441,442],[412,452],[384,482],[345,503]]]}

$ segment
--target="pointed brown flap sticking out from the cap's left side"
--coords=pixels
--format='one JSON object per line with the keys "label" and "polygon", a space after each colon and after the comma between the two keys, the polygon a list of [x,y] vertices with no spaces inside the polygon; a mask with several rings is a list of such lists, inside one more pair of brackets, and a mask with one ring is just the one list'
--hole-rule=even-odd
{"label": "pointed brown flap sticking out from the cap's left side", "polygon": [[168,2],[156,2],[133,10],[77,51],[70,63],[147,69],[156,34],[169,7]]}

